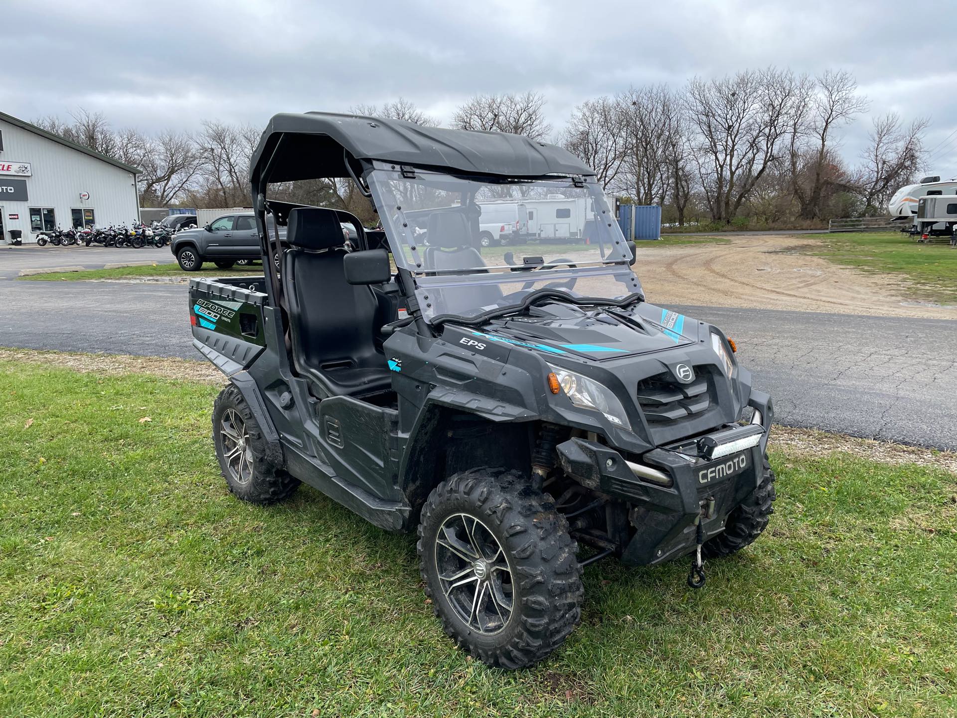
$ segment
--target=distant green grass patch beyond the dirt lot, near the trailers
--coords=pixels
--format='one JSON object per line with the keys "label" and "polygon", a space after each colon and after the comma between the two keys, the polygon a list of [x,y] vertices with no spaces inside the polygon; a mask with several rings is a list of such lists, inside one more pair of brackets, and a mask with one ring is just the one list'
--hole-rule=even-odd
{"label": "distant green grass patch beyond the dirt lot, near the trailers", "polygon": [[957,303],[957,249],[947,242],[918,243],[900,232],[848,232],[814,235],[824,247],[812,254],[867,272],[897,275],[911,284],[914,297]]}

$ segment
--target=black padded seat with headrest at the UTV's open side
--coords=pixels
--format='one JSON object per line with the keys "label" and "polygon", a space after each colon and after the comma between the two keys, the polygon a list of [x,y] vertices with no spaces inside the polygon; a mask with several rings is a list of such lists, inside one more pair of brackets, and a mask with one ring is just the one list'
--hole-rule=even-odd
{"label": "black padded seat with headrest at the UTV's open side", "polygon": [[378,368],[375,337],[384,318],[371,287],[345,281],[345,236],[332,210],[289,213],[281,273],[289,302],[293,358],[300,372]]}

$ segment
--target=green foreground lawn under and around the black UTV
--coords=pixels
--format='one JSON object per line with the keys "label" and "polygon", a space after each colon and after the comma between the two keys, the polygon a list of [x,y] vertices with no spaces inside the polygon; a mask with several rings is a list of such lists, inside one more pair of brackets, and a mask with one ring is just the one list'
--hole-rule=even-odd
{"label": "green foreground lawn under and around the black UTV", "polygon": [[412,537],[307,487],[234,500],[216,391],[0,362],[0,715],[957,711],[943,470],[772,454],[768,531],[701,592],[684,560],[592,566],[564,648],[505,673],[441,633]]}

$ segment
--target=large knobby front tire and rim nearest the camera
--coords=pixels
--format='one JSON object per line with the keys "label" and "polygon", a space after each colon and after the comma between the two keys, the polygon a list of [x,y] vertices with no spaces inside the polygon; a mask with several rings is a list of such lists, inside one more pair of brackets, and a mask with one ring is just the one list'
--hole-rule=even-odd
{"label": "large knobby front tire and rim nearest the camera", "polygon": [[578,623],[584,589],[568,522],[519,472],[482,467],[439,483],[418,536],[435,615],[479,661],[534,665]]}

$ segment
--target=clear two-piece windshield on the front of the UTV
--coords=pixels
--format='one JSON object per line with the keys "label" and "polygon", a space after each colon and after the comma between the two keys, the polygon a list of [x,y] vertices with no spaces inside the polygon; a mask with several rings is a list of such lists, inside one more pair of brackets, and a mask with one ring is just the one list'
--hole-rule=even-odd
{"label": "clear two-piece windshield on the front of the UTV", "polygon": [[611,208],[588,179],[499,183],[377,165],[368,182],[426,318],[472,317],[543,288],[602,299],[641,291]]}

